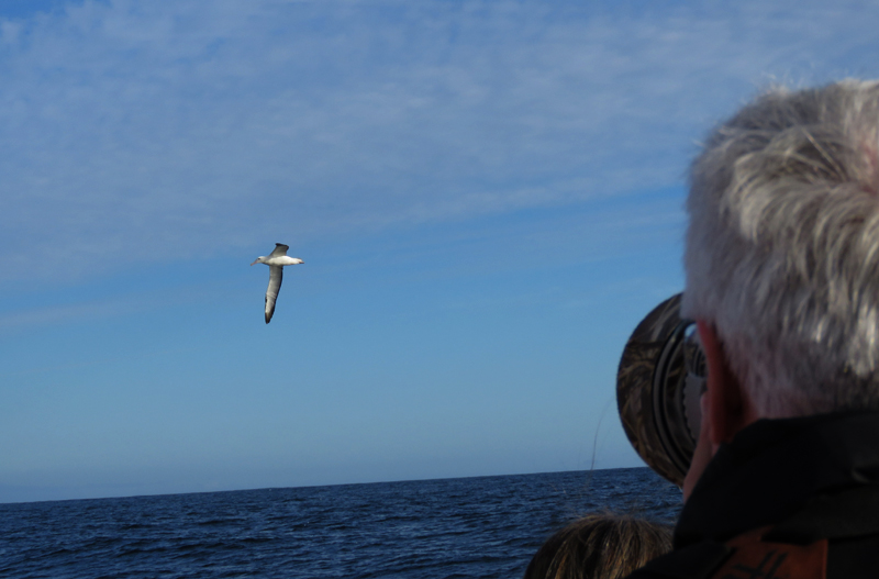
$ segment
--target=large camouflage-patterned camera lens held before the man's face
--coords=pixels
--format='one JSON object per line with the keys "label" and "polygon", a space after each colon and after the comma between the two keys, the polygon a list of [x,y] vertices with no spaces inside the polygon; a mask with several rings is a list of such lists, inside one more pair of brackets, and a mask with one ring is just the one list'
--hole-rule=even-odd
{"label": "large camouflage-patterned camera lens held before the man's face", "polygon": [[616,405],[628,441],[654,471],[683,485],[701,426],[706,364],[681,293],[654,308],[626,342]]}

